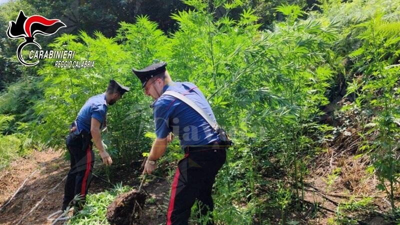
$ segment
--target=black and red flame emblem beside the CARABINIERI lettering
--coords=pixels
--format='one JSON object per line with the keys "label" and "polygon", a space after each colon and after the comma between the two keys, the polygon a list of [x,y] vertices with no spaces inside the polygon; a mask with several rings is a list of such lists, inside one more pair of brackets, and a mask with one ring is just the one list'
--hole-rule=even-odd
{"label": "black and red flame emblem beside the CARABINIERI lettering", "polygon": [[21,37],[25,38],[25,41],[20,43],[16,49],[16,56],[22,64],[32,66],[39,63],[39,61],[37,60],[33,63],[25,62],[21,55],[22,48],[27,44],[34,44],[41,49],[40,44],[34,41],[34,36],[36,34],[49,36],[57,32],[61,27],[66,27],[66,25],[59,19],[47,19],[41,15],[31,15],[26,17],[23,11],[20,10],[16,20],[9,21],[7,36],[11,39]]}

